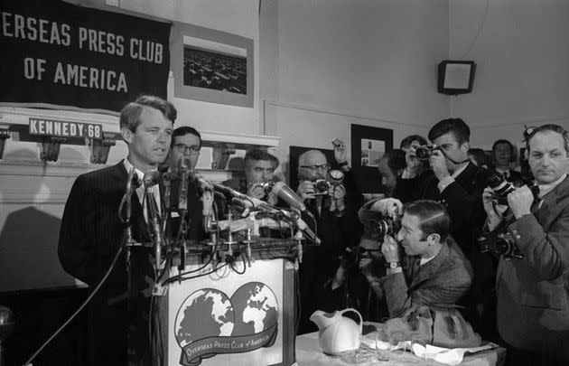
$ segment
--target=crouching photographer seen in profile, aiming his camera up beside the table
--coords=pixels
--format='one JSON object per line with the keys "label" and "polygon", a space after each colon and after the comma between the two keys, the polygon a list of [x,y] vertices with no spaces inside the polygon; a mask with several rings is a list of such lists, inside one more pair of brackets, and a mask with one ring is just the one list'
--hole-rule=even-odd
{"label": "crouching photographer seen in profile, aiming his camera up beside the table", "polygon": [[[386,218],[396,216],[401,206],[387,198],[370,203],[369,208],[378,211],[378,219],[387,227],[397,228],[396,221]],[[455,305],[471,286],[472,268],[449,236],[451,219],[444,206],[428,200],[407,203],[400,226],[396,239],[389,234],[383,237],[383,258],[359,260],[370,286],[385,297],[389,316],[400,316],[416,305]],[[394,234],[396,229],[390,231]]]}

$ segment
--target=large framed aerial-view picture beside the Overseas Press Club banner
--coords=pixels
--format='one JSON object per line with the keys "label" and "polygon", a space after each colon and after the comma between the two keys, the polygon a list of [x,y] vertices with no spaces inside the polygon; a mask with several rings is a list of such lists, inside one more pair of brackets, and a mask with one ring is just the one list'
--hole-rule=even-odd
{"label": "large framed aerial-view picture beside the Overseas Press Club banner", "polygon": [[174,22],[170,54],[174,97],[253,108],[253,40]]}

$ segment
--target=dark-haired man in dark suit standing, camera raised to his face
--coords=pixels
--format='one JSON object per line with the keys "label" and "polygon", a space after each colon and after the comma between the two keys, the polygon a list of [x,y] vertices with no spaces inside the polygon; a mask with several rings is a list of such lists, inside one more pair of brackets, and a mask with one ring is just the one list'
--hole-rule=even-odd
{"label": "dark-haired man in dark suit standing, camera raised to his face", "polygon": [[428,157],[430,170],[417,174],[423,162],[417,159],[418,143],[406,153],[407,167],[397,181],[393,197],[403,202],[434,200],[443,203],[451,217],[451,235],[471,261],[474,282],[466,297],[466,317],[483,337],[495,340],[493,284],[495,263],[490,253],[480,253],[477,239],[486,214],[482,191],[489,172],[468,158],[471,130],[461,118],[443,119],[429,131],[434,150]]}

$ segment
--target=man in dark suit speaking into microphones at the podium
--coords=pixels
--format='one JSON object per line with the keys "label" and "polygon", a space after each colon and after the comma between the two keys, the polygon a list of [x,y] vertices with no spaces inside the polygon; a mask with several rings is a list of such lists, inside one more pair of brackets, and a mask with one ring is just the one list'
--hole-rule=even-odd
{"label": "man in dark suit speaking into microphones at the podium", "polygon": [[[81,174],[73,183],[61,220],[58,254],[62,267],[89,285],[92,291],[105,276],[117,251],[125,242],[126,225],[118,208],[126,192],[129,172],[133,181],[156,170],[171,145],[173,104],[153,96],[141,96],[123,108],[120,131],[128,155],[114,166]],[[132,231],[136,241],[147,242],[150,230],[145,224],[148,210],[141,205],[144,187],[132,195]],[[154,185],[156,207],[162,204],[158,185]],[[140,200],[140,201],[139,201]],[[153,204],[151,202],[151,204]],[[160,211],[160,209],[158,209]],[[124,257],[125,253],[123,253]],[[89,303],[89,364],[126,365],[127,358],[127,272],[125,258],[118,258],[105,284]]]}

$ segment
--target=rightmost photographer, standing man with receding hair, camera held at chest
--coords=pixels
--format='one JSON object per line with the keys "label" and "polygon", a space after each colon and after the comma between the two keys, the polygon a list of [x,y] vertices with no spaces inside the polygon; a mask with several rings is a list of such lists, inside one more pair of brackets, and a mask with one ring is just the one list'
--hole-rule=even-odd
{"label": "rightmost photographer, standing man with receding hair, camera held at chest", "polygon": [[496,210],[495,190],[487,188],[483,193],[490,238],[503,228],[506,242],[519,253],[518,257],[502,255],[499,259],[498,330],[509,345],[509,363],[566,365],[569,136],[557,125],[527,128],[524,135],[538,199],[526,185],[511,190],[503,217],[503,210]]}

